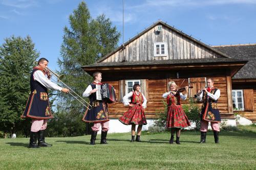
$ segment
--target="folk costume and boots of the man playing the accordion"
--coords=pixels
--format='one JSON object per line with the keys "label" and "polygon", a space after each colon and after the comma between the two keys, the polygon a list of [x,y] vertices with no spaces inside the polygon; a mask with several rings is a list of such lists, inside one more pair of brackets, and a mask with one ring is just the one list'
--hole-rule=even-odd
{"label": "folk costume and boots of the man playing the accordion", "polygon": [[83,92],[83,96],[90,100],[90,105],[92,106],[86,110],[82,120],[84,122],[93,122],[94,125],[92,127],[92,136],[91,136],[91,143],[95,144],[97,132],[101,126],[101,140],[100,144],[107,144],[106,143],[106,135],[108,134],[109,130],[109,112],[108,112],[108,104],[105,101],[97,100],[96,99],[96,92],[90,93],[93,89],[96,88],[96,84],[102,85],[102,83],[93,82],[90,84],[86,91]]}

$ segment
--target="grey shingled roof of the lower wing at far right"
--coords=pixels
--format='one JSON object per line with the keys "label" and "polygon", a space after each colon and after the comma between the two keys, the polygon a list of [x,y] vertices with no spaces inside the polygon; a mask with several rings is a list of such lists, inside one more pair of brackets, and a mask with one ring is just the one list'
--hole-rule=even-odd
{"label": "grey shingled roof of the lower wing at far right", "polygon": [[213,48],[232,59],[248,61],[232,79],[256,79],[256,44],[222,45]]}

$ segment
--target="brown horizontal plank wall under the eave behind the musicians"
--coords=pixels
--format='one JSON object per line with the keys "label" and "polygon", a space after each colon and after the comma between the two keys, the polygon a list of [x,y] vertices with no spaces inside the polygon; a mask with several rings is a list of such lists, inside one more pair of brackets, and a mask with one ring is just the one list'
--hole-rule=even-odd
{"label": "brown horizontal plank wall under the eave behind the musicians", "polygon": [[[157,117],[157,113],[162,111],[163,102],[165,99],[162,98],[163,93],[167,91],[167,83],[172,80],[180,85],[184,79],[177,79],[177,78],[166,78],[166,79],[147,79],[146,83],[148,86],[148,101],[147,101],[147,108],[145,109],[145,114],[147,118],[155,118]],[[228,105],[227,105],[227,87],[226,87],[226,77],[214,77],[214,85],[221,91],[221,96],[218,100],[218,107],[220,113],[222,114],[222,118],[228,117],[225,114],[228,113]],[[106,83],[106,82],[103,82]],[[119,95],[119,87],[118,81],[108,81],[109,84],[113,85],[116,89],[116,96]],[[183,82],[181,87],[188,85],[188,79],[186,78]],[[256,100],[256,92],[254,92],[254,100]],[[186,101],[181,101],[181,104],[188,104],[189,100],[187,98]],[[201,107],[202,103],[197,103],[199,107]],[[256,108],[256,107],[254,107]],[[128,107],[125,107],[123,103],[113,103],[109,104],[109,112],[111,118],[118,118],[121,116],[125,111],[127,111]],[[230,114],[229,114],[230,115]]]}

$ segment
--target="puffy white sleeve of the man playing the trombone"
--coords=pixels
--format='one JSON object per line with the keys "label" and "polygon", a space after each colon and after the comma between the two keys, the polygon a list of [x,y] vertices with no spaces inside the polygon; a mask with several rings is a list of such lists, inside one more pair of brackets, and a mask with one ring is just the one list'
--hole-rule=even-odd
{"label": "puffy white sleeve of the man playing the trombone", "polygon": [[36,70],[34,72],[34,80],[45,86],[46,88],[49,88],[51,90],[62,90],[62,87],[58,86],[57,84],[51,82],[47,77],[45,77],[44,73],[40,70]]}

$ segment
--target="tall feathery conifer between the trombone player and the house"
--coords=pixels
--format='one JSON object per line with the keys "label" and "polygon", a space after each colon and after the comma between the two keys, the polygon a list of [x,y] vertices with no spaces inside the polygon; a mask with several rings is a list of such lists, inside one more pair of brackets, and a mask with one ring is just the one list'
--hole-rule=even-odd
{"label": "tall feathery conifer between the trombone player and the house", "polygon": [[[120,33],[105,15],[93,19],[86,3],[81,2],[69,16],[70,27],[64,28],[61,57],[58,59],[59,73],[65,75],[63,82],[79,95],[92,82],[91,76],[81,66],[92,64],[117,47]],[[69,94],[58,93],[59,113],[69,114],[71,122],[81,122],[84,108]],[[77,124],[78,125],[78,124]],[[83,124],[85,125],[85,124]],[[84,126],[85,128],[85,126]]]}

